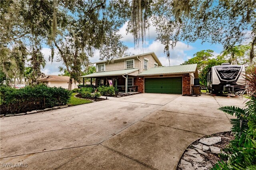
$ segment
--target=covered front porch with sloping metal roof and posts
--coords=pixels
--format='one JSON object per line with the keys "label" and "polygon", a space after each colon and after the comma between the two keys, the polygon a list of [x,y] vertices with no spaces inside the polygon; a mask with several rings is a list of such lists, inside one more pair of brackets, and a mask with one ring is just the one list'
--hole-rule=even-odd
{"label": "covered front porch with sloping metal roof and posts", "polygon": [[[123,93],[138,92],[138,86],[136,85],[137,76],[130,73],[137,69],[117,70],[108,72],[96,72],[81,76],[83,78],[83,85],[97,88],[99,86],[114,86],[116,91]],[[119,74],[119,75],[118,75]],[[85,84],[86,79],[90,79],[90,84]],[[92,79],[95,79],[95,85],[92,83]]]}

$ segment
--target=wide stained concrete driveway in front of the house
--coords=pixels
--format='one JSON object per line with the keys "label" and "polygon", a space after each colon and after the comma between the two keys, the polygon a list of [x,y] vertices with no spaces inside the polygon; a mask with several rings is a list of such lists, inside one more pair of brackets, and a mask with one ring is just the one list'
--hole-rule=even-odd
{"label": "wide stained concrete driveway in front of the house", "polygon": [[144,93],[4,117],[0,166],[174,170],[192,142],[230,130],[231,117],[217,108],[243,100]]}

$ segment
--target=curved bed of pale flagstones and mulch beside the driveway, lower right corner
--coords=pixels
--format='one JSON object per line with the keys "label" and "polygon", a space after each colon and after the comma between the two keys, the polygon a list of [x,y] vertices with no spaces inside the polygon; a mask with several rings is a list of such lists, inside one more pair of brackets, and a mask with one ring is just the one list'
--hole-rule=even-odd
{"label": "curved bed of pale flagstones and mulch beside the driveway, lower right corner", "polygon": [[226,154],[223,149],[233,139],[231,131],[206,135],[198,139],[184,151],[176,170],[211,169],[218,161],[223,160],[219,154]]}

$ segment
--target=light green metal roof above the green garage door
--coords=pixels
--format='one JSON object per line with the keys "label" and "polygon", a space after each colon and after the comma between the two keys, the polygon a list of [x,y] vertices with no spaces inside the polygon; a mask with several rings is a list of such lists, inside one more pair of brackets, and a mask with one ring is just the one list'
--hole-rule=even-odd
{"label": "light green metal roof above the green garage door", "polygon": [[184,73],[196,73],[195,76],[198,77],[197,64],[150,68],[138,74],[138,76],[149,76],[149,75],[160,75],[160,74],[184,74]]}

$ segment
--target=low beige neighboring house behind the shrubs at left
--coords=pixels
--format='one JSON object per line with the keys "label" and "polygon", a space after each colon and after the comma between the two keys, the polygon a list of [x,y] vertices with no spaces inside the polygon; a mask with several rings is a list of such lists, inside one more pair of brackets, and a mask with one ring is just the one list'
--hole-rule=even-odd
{"label": "low beige neighboring house behind the shrubs at left", "polygon": [[[46,78],[41,78],[38,82],[44,83],[49,87],[62,87],[68,89],[69,76],[47,75]],[[72,89],[77,88],[77,83],[72,80]]]}

